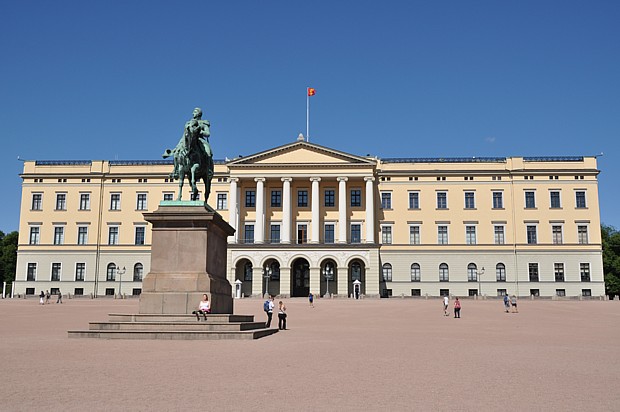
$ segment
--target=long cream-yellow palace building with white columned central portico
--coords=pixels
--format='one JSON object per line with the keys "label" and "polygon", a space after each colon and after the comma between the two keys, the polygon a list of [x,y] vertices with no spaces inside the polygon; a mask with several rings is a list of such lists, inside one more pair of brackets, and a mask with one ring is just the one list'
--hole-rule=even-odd
{"label": "long cream-yellow palace building with white columned central portico", "polygon": [[[26,161],[15,293],[141,292],[170,161]],[[601,296],[596,158],[377,158],[297,140],[216,161],[237,296]],[[202,185],[199,186],[202,189]],[[189,198],[190,185],[184,186]]]}

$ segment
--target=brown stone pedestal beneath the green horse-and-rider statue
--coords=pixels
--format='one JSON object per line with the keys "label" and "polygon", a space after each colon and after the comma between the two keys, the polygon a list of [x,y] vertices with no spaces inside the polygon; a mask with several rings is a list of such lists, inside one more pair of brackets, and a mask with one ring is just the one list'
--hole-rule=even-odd
{"label": "brown stone pedestal beneath the green horse-and-rider statue", "polygon": [[153,225],[153,239],[139,313],[191,313],[206,293],[212,313],[232,314],[226,250],[235,230],[199,201],[161,202],[144,218]]}

